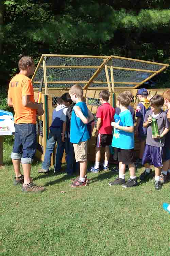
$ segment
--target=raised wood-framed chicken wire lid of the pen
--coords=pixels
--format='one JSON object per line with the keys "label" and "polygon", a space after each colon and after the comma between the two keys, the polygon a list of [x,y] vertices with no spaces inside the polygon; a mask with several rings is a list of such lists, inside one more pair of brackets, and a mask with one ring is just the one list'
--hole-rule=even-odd
{"label": "raised wood-framed chicken wire lid of the pen", "polygon": [[[75,83],[79,83],[82,87],[88,83],[89,88],[108,88],[104,61],[108,61],[110,82],[110,66],[113,65],[115,88],[134,88],[135,86],[139,86],[144,80],[149,80],[152,75],[155,75],[168,66],[162,63],[118,56],[42,55],[38,69],[35,71],[32,79],[34,88],[39,87],[44,74],[43,60],[46,62],[48,88],[69,88]],[[94,76],[96,71],[98,74]]]}

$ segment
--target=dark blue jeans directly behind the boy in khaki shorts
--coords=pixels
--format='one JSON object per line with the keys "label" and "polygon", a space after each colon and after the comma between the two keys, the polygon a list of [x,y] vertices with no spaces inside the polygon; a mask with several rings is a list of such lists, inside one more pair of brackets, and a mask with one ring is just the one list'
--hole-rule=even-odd
{"label": "dark blue jeans directly behind the boy in khaki shorts", "polygon": [[70,138],[66,138],[66,172],[67,174],[73,174],[79,170],[79,162],[75,161],[73,144],[70,142]]}

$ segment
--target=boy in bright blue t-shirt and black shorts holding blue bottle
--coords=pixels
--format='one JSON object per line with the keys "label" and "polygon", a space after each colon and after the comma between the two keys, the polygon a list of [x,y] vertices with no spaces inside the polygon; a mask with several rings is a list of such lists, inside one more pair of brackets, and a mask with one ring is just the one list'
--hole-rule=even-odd
{"label": "boy in bright blue t-shirt and black shorts holding blue bottle", "polygon": [[[119,176],[115,181],[111,181],[108,185],[122,185],[122,187],[137,186],[135,174],[134,157],[134,122],[131,112],[128,110],[130,97],[127,94],[120,93],[117,98],[117,105],[120,107],[120,120],[118,123],[112,122],[114,126],[114,135],[112,146],[118,150]],[[119,125],[121,122],[122,125]],[[130,179],[125,182],[125,167],[129,166]]]}

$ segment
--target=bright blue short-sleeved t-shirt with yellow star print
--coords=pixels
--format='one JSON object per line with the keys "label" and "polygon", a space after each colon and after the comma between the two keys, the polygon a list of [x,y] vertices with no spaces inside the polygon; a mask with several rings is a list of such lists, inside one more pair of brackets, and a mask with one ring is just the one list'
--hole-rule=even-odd
{"label": "bright blue short-sleeved t-shirt with yellow star print", "polygon": [[[131,112],[125,110],[119,114],[122,126],[134,126]],[[114,129],[112,146],[121,149],[132,149],[135,146],[134,132],[127,132],[122,130]]]}

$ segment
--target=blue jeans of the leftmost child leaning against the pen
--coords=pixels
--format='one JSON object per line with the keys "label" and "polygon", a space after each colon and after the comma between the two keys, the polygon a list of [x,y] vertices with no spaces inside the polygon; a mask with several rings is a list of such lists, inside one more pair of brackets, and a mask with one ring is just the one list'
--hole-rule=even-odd
{"label": "blue jeans of the leftmost child leaning against the pen", "polygon": [[51,166],[51,155],[53,153],[55,143],[57,142],[57,150],[55,155],[55,171],[60,171],[62,166],[62,157],[65,149],[65,142],[62,142],[62,127],[52,128],[49,133],[47,140],[46,153],[44,161],[42,163],[42,168],[44,170],[49,170]]}

